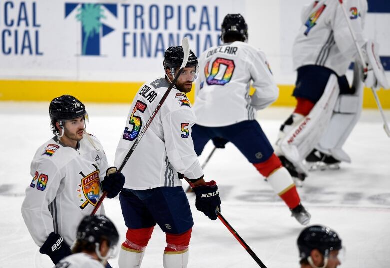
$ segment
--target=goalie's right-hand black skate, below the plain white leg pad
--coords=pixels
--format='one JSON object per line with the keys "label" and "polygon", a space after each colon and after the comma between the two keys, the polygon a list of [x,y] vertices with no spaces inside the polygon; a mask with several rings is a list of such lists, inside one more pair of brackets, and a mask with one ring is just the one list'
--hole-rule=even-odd
{"label": "goalie's right-hand black skate, below the plain white leg pad", "polygon": [[322,153],[316,149],[313,149],[306,157],[306,165],[309,171],[340,169],[340,163],[341,161],[335,159],[333,156]]}

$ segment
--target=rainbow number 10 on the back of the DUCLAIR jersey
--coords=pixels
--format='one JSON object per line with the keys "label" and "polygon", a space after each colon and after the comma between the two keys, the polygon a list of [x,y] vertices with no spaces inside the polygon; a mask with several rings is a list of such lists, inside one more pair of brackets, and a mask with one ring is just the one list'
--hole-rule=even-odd
{"label": "rainbow number 10 on the back of the DUCLAIR jersey", "polygon": [[[234,60],[225,58],[216,58],[212,63],[211,73],[208,71],[210,61],[206,63],[204,67],[204,74],[206,76],[206,82],[208,85],[220,85],[223,86],[230,82],[231,76],[235,68]],[[221,65],[224,66],[221,68]],[[224,72],[222,73],[222,71]],[[220,77],[220,78],[215,78]]]}

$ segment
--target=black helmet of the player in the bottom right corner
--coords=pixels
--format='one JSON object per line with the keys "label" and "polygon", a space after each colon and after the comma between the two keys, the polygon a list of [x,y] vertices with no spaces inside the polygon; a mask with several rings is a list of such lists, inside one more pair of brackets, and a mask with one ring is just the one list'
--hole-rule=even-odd
{"label": "black helmet of the player in the bottom right corner", "polygon": [[329,256],[331,251],[342,248],[341,238],[338,234],[325,226],[312,225],[302,230],[298,237],[298,248],[301,259],[310,256],[312,250],[319,250],[324,257]]}

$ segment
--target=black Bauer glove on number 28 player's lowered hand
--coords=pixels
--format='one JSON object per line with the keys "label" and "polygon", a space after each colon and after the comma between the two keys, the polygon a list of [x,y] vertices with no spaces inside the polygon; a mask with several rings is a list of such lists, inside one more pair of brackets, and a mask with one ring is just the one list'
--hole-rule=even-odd
{"label": "black Bauer glove on number 28 player's lowered hand", "polygon": [[50,233],[42,247],[40,247],[39,252],[47,254],[54,264],[72,254],[69,245],[66,244],[59,234],[54,232]]}

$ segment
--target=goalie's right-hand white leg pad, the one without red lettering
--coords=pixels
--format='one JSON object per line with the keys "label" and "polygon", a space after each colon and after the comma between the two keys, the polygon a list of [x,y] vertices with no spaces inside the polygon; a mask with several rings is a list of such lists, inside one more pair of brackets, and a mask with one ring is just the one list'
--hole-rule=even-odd
{"label": "goalie's right-hand white leg pad, the one without red lettering", "polygon": [[361,66],[355,64],[352,82],[352,87],[356,89],[355,94],[340,95],[338,97],[329,126],[315,147],[322,153],[348,163],[350,163],[351,159],[342,150],[342,146],[360,118],[364,88],[361,75]]}

